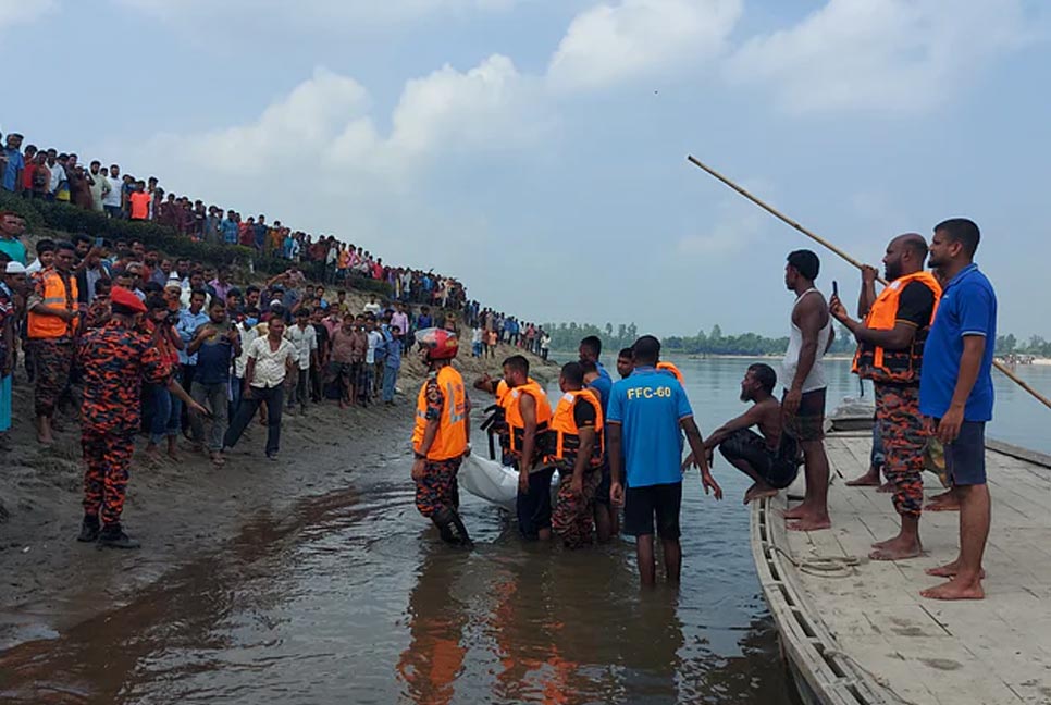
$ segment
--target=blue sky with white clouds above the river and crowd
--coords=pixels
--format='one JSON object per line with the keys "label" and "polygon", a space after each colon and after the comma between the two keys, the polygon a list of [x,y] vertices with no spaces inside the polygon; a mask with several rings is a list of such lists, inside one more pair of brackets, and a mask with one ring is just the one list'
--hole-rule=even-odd
{"label": "blue sky with white clouds above the river and crowd", "polygon": [[1046,0],[0,0],[0,131],[524,320],[783,335],[808,243],[692,153],[871,263],[972,218],[1001,331],[1051,337],[1049,37]]}

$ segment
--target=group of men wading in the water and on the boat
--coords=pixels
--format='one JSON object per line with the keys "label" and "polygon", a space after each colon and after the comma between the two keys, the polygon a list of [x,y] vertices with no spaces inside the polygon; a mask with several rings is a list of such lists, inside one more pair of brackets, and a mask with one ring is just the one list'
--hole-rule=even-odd
{"label": "group of men wading in the water and on the boat", "polygon": [[[881,293],[876,293],[876,270],[862,271],[860,320],[848,313],[838,292],[826,300],[815,286],[820,272],[817,255],[791,252],[784,284],[796,299],[780,375],[762,362],[749,366],[741,400],[750,408],[707,438],[693,419],[681,373],[660,360],[660,343],[653,336],[619,352],[621,380],[616,383],[598,361],[601,339],[581,341],[579,361],[561,368],[562,396],[554,407],[530,376],[527,358],[507,358],[502,379],[482,376],[473,386],[496,398],[495,412],[483,428],[498,436],[503,463],[518,471],[520,533],[528,540],[557,536],[567,547],[578,548],[615,535],[622,507],[623,530],[635,537],[643,584],[656,580],[655,536],[667,579],[677,582],[683,473],[696,467],[705,493],[721,498],[709,470],[716,449],[752,479],[746,504],[787,488],[802,465],[805,496],[786,511],[787,527],[831,528],[824,357],[832,344],[832,321],[838,320],[857,343],[853,371],[876,388],[873,468],[851,484],[878,484],[882,470],[901,519],[899,533],[875,543],[870,558],[904,560],[920,555],[920,474],[925,456],[942,455],[951,488],[931,502],[933,508],[960,511],[960,553],[955,560],[927,571],[947,582],[922,595],[981,598],[981,559],[990,523],[984,434],[992,418],[997,300],[974,263],[979,239],[978,226],[966,219],[939,223],[929,244],[917,234],[895,237],[883,257],[888,283]],[[458,514],[456,475],[470,453],[471,401],[462,378],[449,364],[456,347],[455,338],[446,335],[424,348],[432,375],[418,399],[412,478],[420,514],[446,541],[469,544]],[[683,438],[691,449],[684,461]],[[559,484],[553,506],[556,471]]]}

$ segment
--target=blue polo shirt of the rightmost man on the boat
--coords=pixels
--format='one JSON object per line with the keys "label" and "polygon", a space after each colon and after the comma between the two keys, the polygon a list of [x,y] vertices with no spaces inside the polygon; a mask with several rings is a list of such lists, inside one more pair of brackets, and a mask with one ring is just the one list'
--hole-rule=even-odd
{"label": "blue polo shirt of the rightmost man on the boat", "polygon": [[929,417],[945,416],[956,389],[963,339],[986,338],[978,379],[964,407],[964,420],[992,419],[992,356],[997,341],[997,293],[976,264],[952,277],[941,295],[938,313],[924,346],[924,371],[919,378],[919,410]]}

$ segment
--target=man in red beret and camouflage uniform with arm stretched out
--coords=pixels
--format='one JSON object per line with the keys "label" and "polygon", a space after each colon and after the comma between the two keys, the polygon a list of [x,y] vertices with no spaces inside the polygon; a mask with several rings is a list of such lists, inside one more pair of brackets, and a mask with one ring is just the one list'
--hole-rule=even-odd
{"label": "man in red beret and camouflage uniform with arm stretched out", "polygon": [[[84,521],[77,541],[113,548],[137,548],[121,524],[128,467],[139,430],[144,383],[168,384],[189,409],[207,413],[173,376],[160,349],[139,327],[146,305],[127,289],[114,287],[112,318],[84,334],[77,361],[84,373],[81,447],[84,472]],[[101,521],[100,521],[101,520]]]}

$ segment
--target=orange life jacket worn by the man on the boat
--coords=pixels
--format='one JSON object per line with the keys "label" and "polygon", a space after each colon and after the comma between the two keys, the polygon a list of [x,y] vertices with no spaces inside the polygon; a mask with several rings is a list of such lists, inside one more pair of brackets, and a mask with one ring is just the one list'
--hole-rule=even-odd
{"label": "orange life jacket worn by the man on the boat", "polygon": [[890,382],[897,384],[916,384],[919,382],[920,367],[924,360],[924,344],[930,324],[938,312],[938,301],[941,298],[941,284],[930,272],[916,272],[900,276],[879,293],[873,308],[865,317],[865,326],[874,331],[892,331],[898,321],[898,306],[901,293],[912,282],[919,282],[935,295],[935,306],[930,312],[930,321],[916,331],[912,344],[901,350],[887,350],[878,345],[861,343],[854,354],[852,371],[865,380]]}

